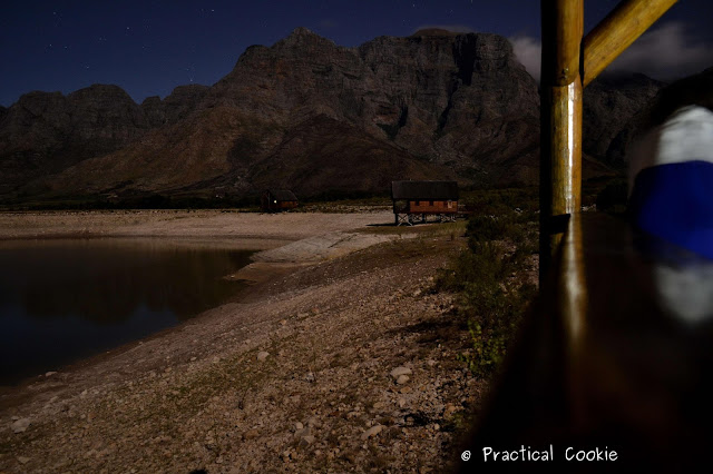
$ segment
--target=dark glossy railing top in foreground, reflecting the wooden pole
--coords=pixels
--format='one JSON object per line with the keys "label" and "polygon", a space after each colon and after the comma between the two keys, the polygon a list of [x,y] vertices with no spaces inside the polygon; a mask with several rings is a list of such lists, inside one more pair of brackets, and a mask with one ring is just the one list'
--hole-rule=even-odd
{"label": "dark glossy railing top in foreground, reflecting the wooden pole", "polygon": [[[713,327],[686,285],[711,265],[622,219],[573,215],[463,468],[709,472]],[[554,461],[484,463],[484,448],[550,445]],[[597,450],[616,460],[567,460]]]}

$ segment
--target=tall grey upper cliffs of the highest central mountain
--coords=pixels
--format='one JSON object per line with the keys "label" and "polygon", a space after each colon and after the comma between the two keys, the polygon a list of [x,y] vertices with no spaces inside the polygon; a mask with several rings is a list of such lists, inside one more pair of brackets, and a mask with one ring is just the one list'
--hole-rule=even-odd
{"label": "tall grey upper cliffs of the highest central mountain", "polygon": [[463,180],[537,145],[537,85],[496,34],[381,37],[338,47],[297,29],[252,47],[204,106],[248,110],[290,128],[324,115]]}

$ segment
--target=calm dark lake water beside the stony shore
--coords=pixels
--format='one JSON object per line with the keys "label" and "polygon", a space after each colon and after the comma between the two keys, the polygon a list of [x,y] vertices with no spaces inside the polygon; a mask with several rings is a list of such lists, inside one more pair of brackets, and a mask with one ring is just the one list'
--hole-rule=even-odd
{"label": "calm dark lake water beside the stony shore", "polygon": [[252,251],[150,239],[0,243],[0,384],[175,326],[229,299]]}

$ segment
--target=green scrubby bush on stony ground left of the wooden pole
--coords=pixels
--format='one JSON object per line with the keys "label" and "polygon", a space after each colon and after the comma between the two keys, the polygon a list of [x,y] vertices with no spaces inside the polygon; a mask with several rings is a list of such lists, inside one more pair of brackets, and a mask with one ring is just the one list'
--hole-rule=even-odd
{"label": "green scrubby bush on stony ground left of the wooden pole", "polygon": [[468,223],[468,248],[439,274],[437,287],[458,294],[472,342],[472,352],[461,359],[486,377],[504,359],[535,295],[522,276],[537,249],[537,223],[534,209],[522,210],[511,192],[494,191],[480,203]]}

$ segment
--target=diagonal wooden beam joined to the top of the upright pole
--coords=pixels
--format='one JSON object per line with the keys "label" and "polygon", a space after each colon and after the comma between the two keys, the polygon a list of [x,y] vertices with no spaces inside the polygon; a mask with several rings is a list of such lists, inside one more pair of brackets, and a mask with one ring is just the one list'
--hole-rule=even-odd
{"label": "diagonal wooden beam joined to the top of the upright pole", "polygon": [[677,0],[625,0],[584,39],[584,86],[614,61]]}

